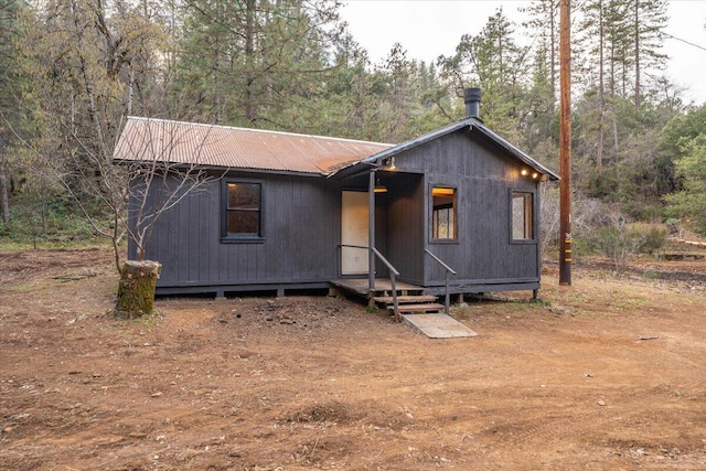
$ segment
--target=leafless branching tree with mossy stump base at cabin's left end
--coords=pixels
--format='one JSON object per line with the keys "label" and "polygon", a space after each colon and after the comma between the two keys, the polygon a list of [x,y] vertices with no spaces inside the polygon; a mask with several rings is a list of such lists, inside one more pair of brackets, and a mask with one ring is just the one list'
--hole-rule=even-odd
{"label": "leafless branching tree with mossy stump base at cabin's left end", "polygon": [[[221,178],[208,172],[201,159],[212,128],[196,129],[200,132],[176,121],[128,118],[115,159],[93,151],[76,133],[71,136],[81,151],[72,152],[69,160],[53,159],[49,146],[38,149],[15,135],[41,161],[43,176],[62,186],[94,231],[110,239],[121,276],[118,311],[128,317],[152,311],[161,265],[145,260],[145,254],[157,222],[183,199]],[[110,221],[88,207],[87,202],[95,201],[108,210]],[[120,243],[126,236],[135,244],[137,264],[121,263]],[[136,269],[142,275],[136,276]]]}

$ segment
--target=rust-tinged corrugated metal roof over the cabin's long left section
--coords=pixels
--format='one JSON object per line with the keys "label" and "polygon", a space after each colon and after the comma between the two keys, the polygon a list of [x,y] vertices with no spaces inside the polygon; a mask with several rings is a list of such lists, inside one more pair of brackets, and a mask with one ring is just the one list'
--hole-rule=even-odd
{"label": "rust-tinged corrugated metal roof over the cabin's long left section", "polygon": [[391,147],[351,139],[129,117],[114,160],[158,160],[329,175]]}

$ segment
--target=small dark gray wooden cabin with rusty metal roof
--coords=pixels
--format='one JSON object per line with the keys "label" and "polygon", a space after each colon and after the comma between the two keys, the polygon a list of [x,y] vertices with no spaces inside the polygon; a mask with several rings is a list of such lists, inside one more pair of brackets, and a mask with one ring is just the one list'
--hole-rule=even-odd
{"label": "small dark gray wooden cabin with rusty metal roof", "polygon": [[213,176],[157,221],[157,293],[536,297],[539,185],[558,176],[483,124],[479,89],[466,103],[399,144],[129,118],[115,162],[168,156]]}

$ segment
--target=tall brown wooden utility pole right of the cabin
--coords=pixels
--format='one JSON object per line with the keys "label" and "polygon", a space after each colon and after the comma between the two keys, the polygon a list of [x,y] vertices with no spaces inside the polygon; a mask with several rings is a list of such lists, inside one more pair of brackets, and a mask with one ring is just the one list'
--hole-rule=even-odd
{"label": "tall brown wooden utility pole right of the cabin", "polygon": [[571,17],[559,1],[559,285],[571,285]]}

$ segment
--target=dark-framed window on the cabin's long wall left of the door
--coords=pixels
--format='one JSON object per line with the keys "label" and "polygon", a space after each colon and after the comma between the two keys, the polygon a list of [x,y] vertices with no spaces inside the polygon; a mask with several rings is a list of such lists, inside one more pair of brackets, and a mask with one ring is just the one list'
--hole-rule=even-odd
{"label": "dark-framed window on the cabin's long wall left of the door", "polygon": [[259,238],[261,234],[261,184],[226,182],[225,221],[226,238]]}

